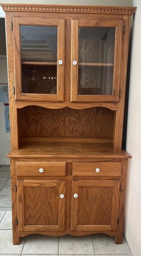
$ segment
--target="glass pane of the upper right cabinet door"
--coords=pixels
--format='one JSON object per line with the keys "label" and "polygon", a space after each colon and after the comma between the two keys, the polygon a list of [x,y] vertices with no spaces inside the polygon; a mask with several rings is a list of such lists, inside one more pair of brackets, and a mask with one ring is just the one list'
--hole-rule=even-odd
{"label": "glass pane of the upper right cabinet door", "polygon": [[115,28],[79,28],[78,95],[112,95]]}

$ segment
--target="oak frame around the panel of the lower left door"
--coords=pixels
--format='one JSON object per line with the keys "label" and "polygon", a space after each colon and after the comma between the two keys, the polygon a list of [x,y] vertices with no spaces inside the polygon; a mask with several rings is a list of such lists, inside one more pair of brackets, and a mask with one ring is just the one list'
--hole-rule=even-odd
{"label": "oak frame around the panel of the lower left door", "polygon": [[[59,187],[58,225],[24,224],[24,187]],[[66,180],[17,180],[18,231],[64,231]],[[60,198],[63,194],[64,198]]]}

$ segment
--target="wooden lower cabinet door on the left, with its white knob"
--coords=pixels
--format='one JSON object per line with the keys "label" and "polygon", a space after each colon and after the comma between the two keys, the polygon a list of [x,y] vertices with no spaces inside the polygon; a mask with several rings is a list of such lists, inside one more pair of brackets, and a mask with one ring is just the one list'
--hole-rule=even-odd
{"label": "wooden lower cabinet door on the left, with its white knob", "polygon": [[17,180],[18,231],[65,230],[65,180]]}

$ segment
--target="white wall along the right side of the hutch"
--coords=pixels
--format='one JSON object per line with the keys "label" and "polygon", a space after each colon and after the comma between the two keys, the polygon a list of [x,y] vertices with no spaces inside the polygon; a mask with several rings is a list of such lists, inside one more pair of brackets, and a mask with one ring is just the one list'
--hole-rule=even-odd
{"label": "white wall along the right side of the hutch", "polygon": [[124,232],[134,256],[141,256],[141,0],[135,0],[126,150],[128,164]]}

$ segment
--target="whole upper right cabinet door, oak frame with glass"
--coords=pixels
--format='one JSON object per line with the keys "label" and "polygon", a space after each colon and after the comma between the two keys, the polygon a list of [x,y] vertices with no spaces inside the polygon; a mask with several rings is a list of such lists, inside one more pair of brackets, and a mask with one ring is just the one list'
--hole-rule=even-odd
{"label": "whole upper right cabinet door, oak frame with glass", "polygon": [[71,101],[118,101],[122,20],[71,20]]}

